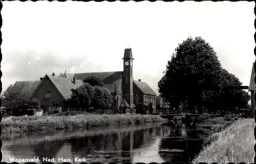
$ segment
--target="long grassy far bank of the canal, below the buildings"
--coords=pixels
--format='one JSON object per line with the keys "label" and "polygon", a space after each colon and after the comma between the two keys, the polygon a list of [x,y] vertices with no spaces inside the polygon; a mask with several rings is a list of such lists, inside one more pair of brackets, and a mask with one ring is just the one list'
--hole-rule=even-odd
{"label": "long grassy far bank of the canal, below the buildings", "polygon": [[166,122],[157,115],[142,114],[78,114],[74,116],[10,116],[3,118],[2,137],[56,130],[84,129],[116,125],[143,125]]}

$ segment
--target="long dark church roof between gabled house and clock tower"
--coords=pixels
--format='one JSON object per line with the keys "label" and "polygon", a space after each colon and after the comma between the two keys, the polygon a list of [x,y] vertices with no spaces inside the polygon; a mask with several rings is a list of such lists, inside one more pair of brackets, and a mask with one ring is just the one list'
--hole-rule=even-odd
{"label": "long dark church roof between gabled house and clock tower", "polygon": [[[95,76],[103,81],[106,88],[110,90],[111,93],[115,92],[115,84],[116,84],[116,90],[118,89],[118,86],[122,79],[122,71],[117,72],[94,72],[94,73],[78,73],[76,75],[76,79],[79,79],[83,81],[84,79]],[[68,77],[73,78],[74,74],[71,73],[64,73],[60,75],[61,77]]]}

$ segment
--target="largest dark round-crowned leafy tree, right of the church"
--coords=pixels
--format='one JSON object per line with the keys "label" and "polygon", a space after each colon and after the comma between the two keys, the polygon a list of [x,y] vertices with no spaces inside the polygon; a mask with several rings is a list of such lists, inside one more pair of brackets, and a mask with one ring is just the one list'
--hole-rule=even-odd
{"label": "largest dark round-crowned leafy tree, right of the church", "polygon": [[[178,45],[166,65],[158,82],[160,96],[175,106],[187,96],[188,107],[192,107],[208,99],[207,90],[220,89],[220,76],[221,64],[214,49],[201,37],[189,37]],[[203,93],[206,97],[202,99]]]}

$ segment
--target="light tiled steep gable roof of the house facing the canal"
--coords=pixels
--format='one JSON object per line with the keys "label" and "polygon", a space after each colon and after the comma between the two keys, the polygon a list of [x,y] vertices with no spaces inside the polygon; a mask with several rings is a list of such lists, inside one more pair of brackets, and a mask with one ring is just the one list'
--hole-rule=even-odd
{"label": "light tiled steep gable roof of the house facing the canal", "polygon": [[[76,80],[75,84],[70,78],[63,78],[63,77],[57,77],[57,76],[52,76],[52,75],[46,75],[40,85],[36,88],[34,93],[40,88],[41,84],[45,81],[46,78],[49,78],[53,85],[57,88],[59,93],[62,95],[62,97],[65,100],[68,100],[70,98],[70,95],[72,93],[71,89],[77,88],[81,86],[83,83],[81,80]],[[33,95],[34,95],[33,93]]]}

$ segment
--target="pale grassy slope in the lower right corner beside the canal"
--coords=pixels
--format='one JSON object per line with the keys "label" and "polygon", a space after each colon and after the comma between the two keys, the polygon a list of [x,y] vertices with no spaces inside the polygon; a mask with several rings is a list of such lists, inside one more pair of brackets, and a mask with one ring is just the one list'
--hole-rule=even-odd
{"label": "pale grassy slope in the lower right corner beside the canal", "polygon": [[212,134],[211,143],[192,162],[253,163],[254,127],[254,119],[234,121],[224,130]]}

